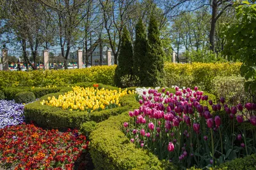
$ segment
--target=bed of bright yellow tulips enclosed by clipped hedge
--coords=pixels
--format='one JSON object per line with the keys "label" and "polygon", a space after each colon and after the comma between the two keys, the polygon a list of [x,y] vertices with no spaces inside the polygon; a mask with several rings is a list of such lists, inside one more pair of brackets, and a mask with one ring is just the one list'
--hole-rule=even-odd
{"label": "bed of bright yellow tulips enclosed by clipped hedge", "polygon": [[[48,101],[42,101],[42,105],[56,106],[63,110],[76,111],[100,111],[120,106],[119,97],[127,94],[125,90],[95,89],[93,87],[72,87],[73,91],[60,95],[58,99],[54,96],[48,97]],[[134,94],[129,90],[129,94]]]}

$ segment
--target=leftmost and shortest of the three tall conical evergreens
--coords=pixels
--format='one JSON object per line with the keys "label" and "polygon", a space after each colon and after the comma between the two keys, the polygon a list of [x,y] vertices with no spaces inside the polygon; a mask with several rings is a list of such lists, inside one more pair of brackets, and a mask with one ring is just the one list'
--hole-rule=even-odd
{"label": "leftmost and shortest of the three tall conical evergreens", "polygon": [[125,75],[132,76],[132,42],[129,31],[126,26],[123,29],[121,38],[120,53],[118,56],[118,66],[116,67],[115,83],[118,87],[121,87],[121,77]]}

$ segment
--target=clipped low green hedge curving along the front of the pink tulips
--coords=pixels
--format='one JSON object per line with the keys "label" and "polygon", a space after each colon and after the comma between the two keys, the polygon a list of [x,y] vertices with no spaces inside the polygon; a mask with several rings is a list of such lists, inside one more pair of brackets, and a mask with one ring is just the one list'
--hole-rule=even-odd
{"label": "clipped low green hedge curving along the front of the pink tulips", "polygon": [[128,121],[128,111],[125,111],[100,122],[90,134],[90,154],[95,169],[177,169],[147,150],[136,148],[120,130],[123,122]]}

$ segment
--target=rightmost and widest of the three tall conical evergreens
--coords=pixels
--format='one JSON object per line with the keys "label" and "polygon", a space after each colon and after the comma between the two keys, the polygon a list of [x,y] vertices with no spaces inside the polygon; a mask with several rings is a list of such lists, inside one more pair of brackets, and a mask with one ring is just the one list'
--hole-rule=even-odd
{"label": "rightmost and widest of the three tall conical evergreens", "polygon": [[164,51],[161,45],[159,27],[156,17],[150,16],[148,24],[148,43],[146,53],[147,73],[142,81],[143,86],[163,85],[164,76]]}

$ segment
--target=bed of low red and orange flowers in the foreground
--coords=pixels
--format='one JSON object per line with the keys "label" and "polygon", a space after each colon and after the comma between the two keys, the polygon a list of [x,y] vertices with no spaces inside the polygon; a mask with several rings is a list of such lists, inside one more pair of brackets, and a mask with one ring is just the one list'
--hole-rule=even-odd
{"label": "bed of low red and orange flowers in the foreground", "polygon": [[87,148],[77,130],[44,130],[33,124],[0,129],[0,167],[15,169],[72,169]]}

